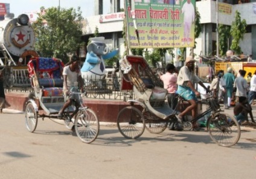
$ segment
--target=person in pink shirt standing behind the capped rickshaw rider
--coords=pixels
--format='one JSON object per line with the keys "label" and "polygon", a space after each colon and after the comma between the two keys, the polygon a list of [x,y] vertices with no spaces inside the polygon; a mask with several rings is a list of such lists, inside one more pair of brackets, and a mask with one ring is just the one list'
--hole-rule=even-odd
{"label": "person in pink shirt standing behind the capped rickshaw rider", "polygon": [[178,104],[178,94],[176,94],[178,73],[178,69],[173,64],[167,64],[166,73],[160,76],[164,88],[168,91],[167,101],[171,109],[175,109]]}

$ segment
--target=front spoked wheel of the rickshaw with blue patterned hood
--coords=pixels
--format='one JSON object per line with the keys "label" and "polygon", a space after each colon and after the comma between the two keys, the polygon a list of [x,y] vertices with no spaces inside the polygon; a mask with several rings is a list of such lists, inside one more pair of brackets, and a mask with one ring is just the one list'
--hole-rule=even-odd
{"label": "front spoked wheel of the rickshaw with blue patterned hood", "polygon": [[79,111],[77,117],[75,117],[74,127],[78,138],[87,144],[95,141],[100,131],[100,123],[92,109]]}

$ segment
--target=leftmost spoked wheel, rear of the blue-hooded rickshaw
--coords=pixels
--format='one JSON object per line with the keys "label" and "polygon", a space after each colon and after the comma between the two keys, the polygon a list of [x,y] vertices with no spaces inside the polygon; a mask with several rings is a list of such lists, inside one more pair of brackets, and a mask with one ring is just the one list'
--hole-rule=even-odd
{"label": "leftmost spoked wheel, rear of the blue-hooded rickshaw", "polygon": [[32,103],[28,103],[25,109],[25,124],[29,132],[34,132],[37,126],[37,112]]}

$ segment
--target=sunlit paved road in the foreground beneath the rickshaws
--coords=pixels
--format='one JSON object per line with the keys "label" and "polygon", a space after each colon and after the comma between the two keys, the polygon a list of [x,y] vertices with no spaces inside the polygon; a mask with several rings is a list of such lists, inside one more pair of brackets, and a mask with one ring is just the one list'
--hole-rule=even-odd
{"label": "sunlit paved road in the foreground beneath the rickshaws", "polygon": [[[24,114],[0,114],[0,178],[255,178],[256,131],[243,131],[231,148],[214,144],[207,132],[160,135],[145,131],[123,138],[115,124],[101,123],[92,144],[48,119],[35,133]],[[59,121],[59,120],[57,120]]]}

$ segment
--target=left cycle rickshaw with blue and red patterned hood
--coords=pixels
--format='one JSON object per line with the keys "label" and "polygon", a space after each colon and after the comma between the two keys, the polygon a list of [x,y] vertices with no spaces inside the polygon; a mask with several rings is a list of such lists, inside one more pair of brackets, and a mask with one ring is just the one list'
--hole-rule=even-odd
{"label": "left cycle rickshaw with blue and red patterned hood", "polygon": [[[28,73],[33,92],[28,96],[25,107],[25,125],[34,132],[38,118],[57,119],[57,114],[65,102],[63,96],[63,62],[55,58],[32,58],[28,62]],[[69,93],[72,93],[69,91]],[[83,105],[81,93],[63,113],[65,126],[75,130],[78,138],[85,143],[93,142],[100,129],[97,115]]]}

